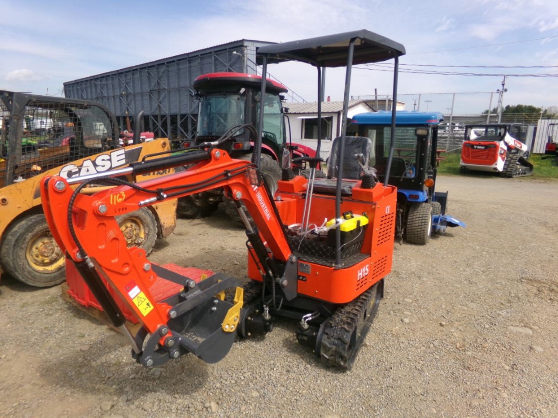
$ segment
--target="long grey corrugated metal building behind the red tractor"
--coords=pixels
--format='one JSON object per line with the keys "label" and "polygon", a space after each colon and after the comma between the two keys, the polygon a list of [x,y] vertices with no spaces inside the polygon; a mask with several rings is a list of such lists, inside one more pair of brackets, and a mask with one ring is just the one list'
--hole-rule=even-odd
{"label": "long grey corrugated metal building behind the red tractor", "polygon": [[126,111],[145,112],[145,129],[156,137],[190,139],[195,134],[198,103],[191,88],[208,72],[256,74],[256,48],[270,42],[239,40],[175,55],[121,70],[64,83],[66,97],[97,100],[126,127]]}

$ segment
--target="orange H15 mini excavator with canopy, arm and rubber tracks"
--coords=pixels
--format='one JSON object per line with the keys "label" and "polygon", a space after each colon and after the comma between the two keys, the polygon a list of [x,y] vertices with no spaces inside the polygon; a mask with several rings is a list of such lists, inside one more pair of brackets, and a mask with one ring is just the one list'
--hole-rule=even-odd
{"label": "orange H15 mini excavator with canopy, arm and rubber tracks", "polygon": [[[257,54],[262,95],[270,63],[301,61],[315,66],[319,94],[323,67],[346,67],[343,120],[347,121],[352,65],[393,59],[395,101],[398,57],[405,48],[360,30],[267,45]],[[264,100],[255,100],[255,105],[260,114],[266,111]],[[391,123],[387,172],[393,157],[395,108]],[[206,362],[217,362],[229,352],[235,335],[266,334],[273,328],[273,318],[283,315],[299,321],[299,342],[324,363],[350,367],[377,312],[383,280],[391,271],[397,189],[387,184],[389,176],[386,182],[378,182],[368,167],[364,155],[371,139],[350,137],[345,144],[345,125],[332,147],[328,178],[315,178],[320,142],[315,157],[302,157],[311,167],[308,179],[295,176],[289,150],[283,149],[282,179],[275,196],[259,170],[263,118],[254,135],[258,140],[252,162],[232,159],[222,149],[238,130],[256,129],[243,124],[182,154],[155,154],[129,167],[89,176],[44,179],[42,202],[52,235],[108,318],[129,338],[136,361],[153,367],[193,353]],[[177,166],[186,169],[137,183],[122,177]],[[94,195],[80,193],[92,183],[116,187]],[[196,283],[150,263],[144,250],[127,248],[115,216],[217,187],[237,202],[246,226],[251,282],[244,288],[225,273]],[[156,302],[150,286],[157,276],[183,288]],[[135,336],[126,328],[115,297],[140,321],[142,328]]]}

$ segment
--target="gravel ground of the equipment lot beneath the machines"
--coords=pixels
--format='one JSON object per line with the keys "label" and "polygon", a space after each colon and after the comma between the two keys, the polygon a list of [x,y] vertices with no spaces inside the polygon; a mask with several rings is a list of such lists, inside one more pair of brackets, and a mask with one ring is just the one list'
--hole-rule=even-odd
{"label": "gravel ground of the equipment lot beneath the machines", "polygon": [[[295,324],[235,343],[221,362],[145,370],[118,333],[60,287],[0,286],[0,416],[558,416],[558,183],[440,177],[467,229],[395,246],[349,372],[321,366]],[[245,236],[225,215],[180,220],[151,259],[245,277]]]}

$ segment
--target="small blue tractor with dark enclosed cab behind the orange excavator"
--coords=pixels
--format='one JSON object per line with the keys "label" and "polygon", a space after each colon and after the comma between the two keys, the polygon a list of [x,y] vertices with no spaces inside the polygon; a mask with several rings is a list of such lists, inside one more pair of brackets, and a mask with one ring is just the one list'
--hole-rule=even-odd
{"label": "small blue tractor with dark enclosed cab behind the orange excavator", "polygon": [[394,155],[388,168],[391,111],[360,113],[352,118],[359,137],[372,140],[369,166],[376,168],[382,182],[389,169],[388,183],[397,186],[396,234],[412,244],[426,244],[432,231],[465,227],[445,214],[448,192],[434,191],[438,125],[443,120],[439,112],[397,111]]}

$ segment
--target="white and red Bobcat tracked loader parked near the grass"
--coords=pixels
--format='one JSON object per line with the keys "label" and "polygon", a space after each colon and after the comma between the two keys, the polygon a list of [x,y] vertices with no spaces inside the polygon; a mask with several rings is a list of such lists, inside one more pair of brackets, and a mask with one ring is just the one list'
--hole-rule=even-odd
{"label": "white and red Bobcat tracked loader parked near the grass", "polygon": [[533,164],[527,161],[529,147],[509,134],[512,128],[519,134],[519,125],[466,125],[461,171],[487,171],[502,177],[530,176]]}

